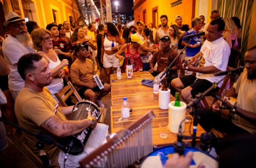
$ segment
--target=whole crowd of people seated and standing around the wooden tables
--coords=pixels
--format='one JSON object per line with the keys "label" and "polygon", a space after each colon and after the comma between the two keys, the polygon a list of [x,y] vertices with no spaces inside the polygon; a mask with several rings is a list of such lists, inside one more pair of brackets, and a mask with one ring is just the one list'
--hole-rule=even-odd
{"label": "whole crowd of people seated and standing around the wooden tables", "polygon": [[[196,94],[206,91],[223,78],[214,76],[214,73],[236,68],[240,59],[239,19],[220,18],[217,10],[211,12],[209,23],[204,23],[204,16],[201,15],[191,21],[191,27],[183,24],[181,15],[177,15],[176,24],[170,26],[168,17],[161,15],[160,28],[155,28],[152,23],[145,25],[139,20],[130,27],[99,24],[97,30],[95,24],[71,30],[67,21],[58,25],[49,23],[46,28],[40,28],[34,21],[25,23],[15,12],[7,13],[5,19],[4,26],[9,35],[6,39],[1,38],[4,59],[0,57],[1,62],[3,60],[0,75],[9,74],[5,82],[8,81],[9,91],[15,100],[19,125],[29,131],[41,131],[55,137],[74,135],[87,127],[104,127],[97,124],[90,113],[87,119],[69,121],[65,115],[72,112],[73,105],[58,106],[54,94],[65,85],[63,77],[67,67],[71,82],[80,96],[104,107],[101,99],[111,90],[111,73],[119,67],[124,72],[128,60],[134,72],[143,68],[143,71],[157,76],[177,57],[171,68],[169,84],[172,94],[173,91],[180,92],[182,100],[189,103]],[[186,38],[203,31],[206,32],[203,36],[195,36],[191,40]],[[184,46],[186,50],[182,51]],[[230,90],[221,97],[224,102],[227,100],[224,97],[237,97],[236,105],[226,103],[232,114],[229,120],[217,115],[216,112],[224,111],[219,100],[212,105],[212,109],[199,111],[199,123],[206,131],[216,127],[228,134],[256,133],[255,46],[246,52],[244,62],[244,71],[237,82],[230,85]],[[103,89],[93,78],[97,71]],[[218,91],[222,84],[219,83],[213,92]],[[26,133],[24,136],[38,155],[39,151],[35,148],[37,140]],[[59,149],[46,145],[45,151],[52,166],[63,166],[63,160],[58,160]],[[66,164],[66,167],[73,167],[78,163],[69,160]]]}

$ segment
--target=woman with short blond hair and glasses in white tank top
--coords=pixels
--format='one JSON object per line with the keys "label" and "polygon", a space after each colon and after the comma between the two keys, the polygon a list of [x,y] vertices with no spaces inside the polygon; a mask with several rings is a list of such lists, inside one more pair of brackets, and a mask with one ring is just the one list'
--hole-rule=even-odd
{"label": "woman with short blond hair and glasses in white tank top", "polygon": [[52,97],[58,102],[54,94],[63,88],[63,79],[65,71],[62,69],[68,65],[68,60],[59,60],[58,54],[52,48],[52,37],[50,31],[44,28],[37,28],[31,33],[34,48],[36,53],[41,55],[48,63],[51,70],[52,83],[47,88],[52,94]]}

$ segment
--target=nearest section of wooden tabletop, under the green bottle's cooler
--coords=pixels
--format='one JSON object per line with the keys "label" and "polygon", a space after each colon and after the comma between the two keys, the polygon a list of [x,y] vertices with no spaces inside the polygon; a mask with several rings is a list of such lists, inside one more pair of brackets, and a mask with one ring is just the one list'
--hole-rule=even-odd
{"label": "nearest section of wooden tabletop, under the green bottle's cooler", "polygon": [[[130,115],[130,118],[128,121],[122,121],[120,120],[121,114],[121,105],[113,105],[111,106],[111,132],[116,132],[121,129],[126,128],[129,124],[132,122],[138,120],[143,114],[148,112],[149,110],[153,110],[155,114],[155,118],[152,120],[152,138],[153,138],[153,145],[165,145],[174,143],[177,140],[177,134],[172,133],[168,130],[167,138],[161,138],[160,137],[160,128],[159,123],[168,123],[168,109],[162,110],[158,107],[158,101],[157,105],[156,103],[149,103],[148,105],[145,105],[145,103],[136,103],[133,104],[133,111]],[[186,117],[189,117],[190,115],[187,113]],[[183,132],[183,135],[190,135],[189,134],[189,125],[191,121],[185,122],[185,131]],[[191,125],[191,133],[192,133],[193,125]],[[197,130],[197,136],[200,136],[202,133],[204,133],[204,129],[198,125]]]}

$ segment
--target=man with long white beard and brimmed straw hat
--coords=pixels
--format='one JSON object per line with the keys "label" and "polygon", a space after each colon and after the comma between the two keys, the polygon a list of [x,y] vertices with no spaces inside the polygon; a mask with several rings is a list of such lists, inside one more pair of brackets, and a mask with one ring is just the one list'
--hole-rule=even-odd
{"label": "man with long white beard and brimmed straw hat", "polygon": [[28,53],[35,53],[32,40],[26,28],[25,20],[18,14],[11,11],[5,15],[7,31],[10,34],[3,41],[3,55],[11,69],[8,75],[9,90],[15,100],[24,86],[24,80],[17,71],[17,63],[21,56]]}

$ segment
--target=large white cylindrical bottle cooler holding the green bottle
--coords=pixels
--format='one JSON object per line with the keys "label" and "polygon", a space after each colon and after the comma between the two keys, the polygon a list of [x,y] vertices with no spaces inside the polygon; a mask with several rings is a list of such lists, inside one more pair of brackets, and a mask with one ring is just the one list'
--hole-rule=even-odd
{"label": "large white cylindrical bottle cooler holding the green bottle", "polygon": [[[171,132],[178,133],[180,122],[186,117],[186,104],[180,102],[180,107],[174,106],[175,101],[169,103],[169,122],[168,128]],[[182,123],[182,132],[184,131],[185,122]]]}

